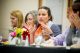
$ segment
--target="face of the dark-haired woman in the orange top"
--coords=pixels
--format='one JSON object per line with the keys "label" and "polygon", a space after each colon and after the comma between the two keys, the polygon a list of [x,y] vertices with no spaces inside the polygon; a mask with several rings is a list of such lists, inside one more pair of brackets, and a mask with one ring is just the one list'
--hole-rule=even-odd
{"label": "face of the dark-haired woman in the orange top", "polygon": [[39,9],[38,10],[38,22],[47,23],[49,20],[48,12],[46,9]]}

